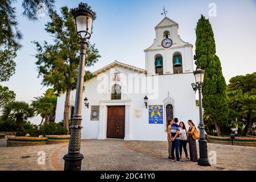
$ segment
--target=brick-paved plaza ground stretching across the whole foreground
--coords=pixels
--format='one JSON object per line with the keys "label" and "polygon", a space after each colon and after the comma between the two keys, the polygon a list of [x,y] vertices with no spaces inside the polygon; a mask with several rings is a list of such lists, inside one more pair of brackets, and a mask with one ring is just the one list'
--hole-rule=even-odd
{"label": "brick-paved plaza ground stretching across the whole foreground", "polygon": [[[63,170],[62,157],[67,153],[67,143],[27,147],[5,145],[6,140],[0,139],[0,170]],[[208,152],[217,157],[216,164],[211,167],[198,166],[189,160],[172,162],[166,158],[166,148],[167,142],[82,140],[82,170],[256,171],[256,147],[208,143]],[[46,154],[45,164],[38,164],[42,151]]]}

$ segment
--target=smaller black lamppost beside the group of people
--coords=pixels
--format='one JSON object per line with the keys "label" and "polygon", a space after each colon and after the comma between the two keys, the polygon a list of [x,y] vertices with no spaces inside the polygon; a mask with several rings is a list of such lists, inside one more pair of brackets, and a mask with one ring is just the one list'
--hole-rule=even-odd
{"label": "smaller black lamppost beside the group of people", "polygon": [[207,140],[205,139],[205,125],[202,118],[202,84],[204,82],[204,74],[205,74],[205,71],[200,68],[197,68],[196,71],[194,71],[196,84],[192,84],[192,87],[194,90],[198,89],[198,92],[199,92],[200,139],[198,140],[198,142],[199,142],[200,158],[198,159],[198,165],[210,166],[210,163],[208,160]]}

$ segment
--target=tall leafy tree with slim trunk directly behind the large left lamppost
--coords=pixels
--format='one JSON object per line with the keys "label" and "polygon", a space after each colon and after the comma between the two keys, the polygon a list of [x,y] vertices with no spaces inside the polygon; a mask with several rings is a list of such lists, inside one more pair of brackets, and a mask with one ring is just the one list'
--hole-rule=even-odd
{"label": "tall leafy tree with slim trunk directly behind the large left lamppost", "polygon": [[[60,9],[60,13],[61,15],[56,12],[50,15],[51,22],[46,24],[45,29],[54,38],[54,44],[34,43],[37,50],[35,57],[38,76],[43,77],[42,84],[52,86],[58,94],[66,93],[63,123],[68,130],[70,92],[76,88],[78,78],[80,39],[76,35],[71,10],[64,6]],[[89,43],[86,66],[94,65],[99,57],[95,45]],[[92,75],[87,71],[84,79],[88,80],[91,77]]]}

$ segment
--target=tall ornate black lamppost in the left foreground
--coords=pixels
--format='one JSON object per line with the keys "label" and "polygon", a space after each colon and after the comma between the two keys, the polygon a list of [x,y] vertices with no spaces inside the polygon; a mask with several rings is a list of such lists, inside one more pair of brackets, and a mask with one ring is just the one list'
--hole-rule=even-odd
{"label": "tall ornate black lamppost in the left foreground", "polygon": [[79,6],[72,10],[75,21],[76,34],[80,41],[80,62],[78,83],[76,85],[75,110],[72,117],[72,126],[70,126],[71,136],[68,146],[68,154],[64,155],[64,171],[80,171],[83,154],[80,154],[81,140],[81,122],[82,122],[82,103],[83,103],[83,84],[84,84],[84,64],[86,59],[86,49],[88,46],[87,39],[91,37],[92,21],[95,13],[90,9],[87,3],[80,3]]}

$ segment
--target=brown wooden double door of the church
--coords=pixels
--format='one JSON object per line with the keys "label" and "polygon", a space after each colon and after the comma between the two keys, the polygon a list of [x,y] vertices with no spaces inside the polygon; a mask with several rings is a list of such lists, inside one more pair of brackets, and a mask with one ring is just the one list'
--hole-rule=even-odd
{"label": "brown wooden double door of the church", "polygon": [[107,138],[124,138],[125,106],[108,106]]}

